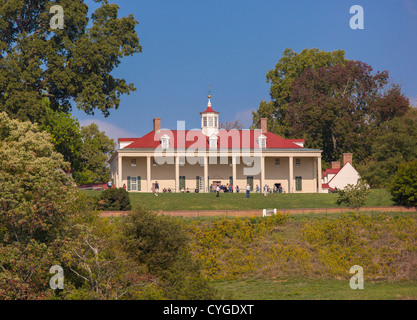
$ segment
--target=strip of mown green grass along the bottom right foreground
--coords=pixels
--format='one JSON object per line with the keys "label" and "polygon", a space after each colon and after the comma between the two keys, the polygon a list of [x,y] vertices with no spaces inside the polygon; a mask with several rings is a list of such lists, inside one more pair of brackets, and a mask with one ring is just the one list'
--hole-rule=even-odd
{"label": "strip of mown green grass along the bottom right foreground", "polygon": [[235,300],[396,300],[417,299],[417,281],[367,282],[353,290],[346,280],[307,278],[213,282],[226,299]]}

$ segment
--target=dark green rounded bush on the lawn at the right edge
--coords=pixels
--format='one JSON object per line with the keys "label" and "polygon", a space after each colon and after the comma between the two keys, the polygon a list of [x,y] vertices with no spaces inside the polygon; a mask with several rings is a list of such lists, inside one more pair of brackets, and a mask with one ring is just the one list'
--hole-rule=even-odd
{"label": "dark green rounded bush on the lawn at the right edge", "polygon": [[400,164],[391,184],[391,194],[397,204],[417,207],[417,159]]}

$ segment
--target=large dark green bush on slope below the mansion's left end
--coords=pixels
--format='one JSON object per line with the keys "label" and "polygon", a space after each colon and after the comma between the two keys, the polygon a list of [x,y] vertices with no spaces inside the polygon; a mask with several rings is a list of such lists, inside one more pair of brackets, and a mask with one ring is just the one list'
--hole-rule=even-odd
{"label": "large dark green bush on slope below the mansion's left end", "polygon": [[126,248],[161,279],[168,299],[212,299],[216,293],[190,253],[190,238],[176,218],[136,207],[124,218]]}

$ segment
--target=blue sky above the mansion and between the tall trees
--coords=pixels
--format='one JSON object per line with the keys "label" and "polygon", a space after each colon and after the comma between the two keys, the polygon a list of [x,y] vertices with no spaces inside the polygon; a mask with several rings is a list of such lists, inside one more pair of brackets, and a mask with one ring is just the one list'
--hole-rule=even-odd
{"label": "blue sky above the mansion and between the tall trees", "polygon": [[[417,0],[109,0],[133,14],[142,53],[113,72],[135,84],[104,118],[74,110],[112,138],[140,137],[162,128],[200,126],[208,84],[220,121],[252,124],[251,110],[269,99],[265,75],[286,48],[343,49],[346,57],[388,70],[390,80],[417,98]],[[87,1],[90,8],[97,5]],[[364,9],[364,29],[352,30],[351,6]],[[414,103],[414,102],[413,102]]]}

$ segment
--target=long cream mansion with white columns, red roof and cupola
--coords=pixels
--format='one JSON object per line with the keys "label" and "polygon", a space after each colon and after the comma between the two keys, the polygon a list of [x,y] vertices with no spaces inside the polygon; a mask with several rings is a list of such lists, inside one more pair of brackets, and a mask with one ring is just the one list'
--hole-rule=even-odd
{"label": "long cream mansion with white columns, red roof and cupola", "polygon": [[141,138],[119,138],[119,149],[109,159],[115,187],[130,192],[159,190],[209,192],[212,186],[246,185],[260,190],[268,185],[286,193],[322,192],[321,150],[304,148],[302,139],[284,139],[267,130],[219,129],[219,112],[210,95],[201,114],[201,129],[161,129],[161,118]]}

